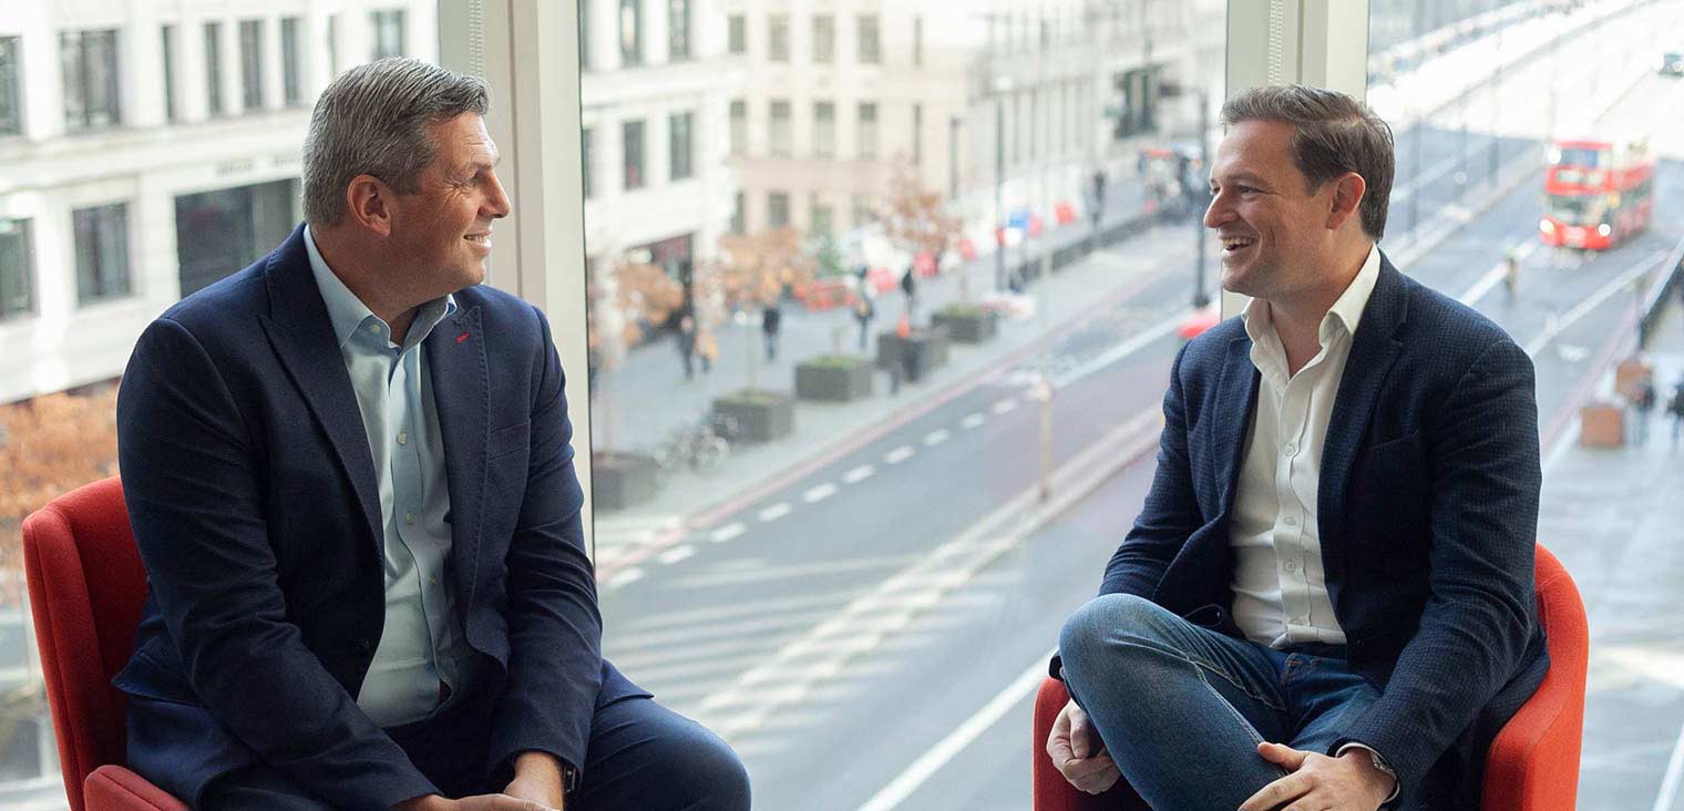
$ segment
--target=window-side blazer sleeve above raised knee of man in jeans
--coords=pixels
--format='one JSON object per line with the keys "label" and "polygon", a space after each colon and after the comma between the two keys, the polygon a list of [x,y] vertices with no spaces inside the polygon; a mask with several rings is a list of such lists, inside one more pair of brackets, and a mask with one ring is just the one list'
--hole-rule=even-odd
{"label": "window-side blazer sleeve above raised knee of man in jeans", "polygon": [[1169,390],[1164,392],[1164,432],[1159,436],[1157,469],[1145,505],[1133,528],[1123,537],[1105,565],[1100,594],[1135,594],[1152,597],[1170,560],[1187,538],[1204,525],[1199,500],[1192,491],[1192,468],[1187,456],[1187,350],[1182,347],[1170,367]]}

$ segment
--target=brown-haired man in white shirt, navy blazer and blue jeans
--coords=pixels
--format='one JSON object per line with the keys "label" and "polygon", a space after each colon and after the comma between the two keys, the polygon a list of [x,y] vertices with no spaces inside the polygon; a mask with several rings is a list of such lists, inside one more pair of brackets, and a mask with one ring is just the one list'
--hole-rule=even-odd
{"label": "brown-haired man in white shirt, navy blazer and blue jeans", "polygon": [[1549,666],[1531,360],[1381,254],[1371,109],[1256,87],[1223,125],[1204,224],[1251,303],[1175,358],[1145,506],[1061,634],[1047,750],[1159,809],[1477,808]]}

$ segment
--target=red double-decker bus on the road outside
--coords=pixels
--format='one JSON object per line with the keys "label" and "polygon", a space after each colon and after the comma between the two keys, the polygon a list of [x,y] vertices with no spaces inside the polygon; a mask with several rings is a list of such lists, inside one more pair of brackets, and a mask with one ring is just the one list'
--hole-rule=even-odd
{"label": "red double-decker bus on the road outside", "polygon": [[1655,158],[1640,141],[1558,140],[1544,168],[1539,236],[1551,247],[1608,249],[1649,227]]}

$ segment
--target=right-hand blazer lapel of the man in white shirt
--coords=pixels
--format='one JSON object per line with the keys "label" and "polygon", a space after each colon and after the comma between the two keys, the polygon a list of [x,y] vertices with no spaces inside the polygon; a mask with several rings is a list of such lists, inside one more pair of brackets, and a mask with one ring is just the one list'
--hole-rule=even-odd
{"label": "right-hand blazer lapel of the man in white shirt", "polygon": [[1322,444],[1320,485],[1317,488],[1317,520],[1320,523],[1322,562],[1327,567],[1327,587],[1339,602],[1339,586],[1346,572],[1346,490],[1351,468],[1356,464],[1362,434],[1379,404],[1381,387],[1393,363],[1403,353],[1396,340],[1398,326],[1408,316],[1408,291],[1403,276],[1381,254],[1379,279],[1362,321],[1351,342],[1339,395],[1327,422],[1327,439]]}

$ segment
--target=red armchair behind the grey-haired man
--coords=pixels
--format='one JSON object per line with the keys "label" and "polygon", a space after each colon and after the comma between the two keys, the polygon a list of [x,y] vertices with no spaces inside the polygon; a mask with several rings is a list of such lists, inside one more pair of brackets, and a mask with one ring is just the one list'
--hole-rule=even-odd
{"label": "red armchair behind the grey-haired man", "polygon": [[24,572],[71,811],[187,811],[123,767],[126,698],[111,676],[147,599],[123,485],[96,481],[24,520]]}

